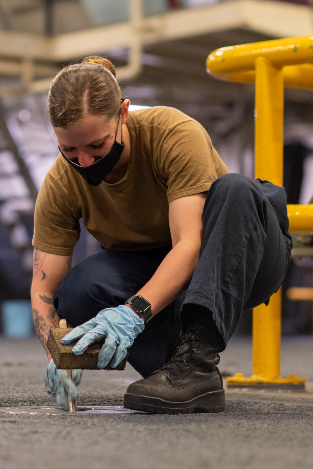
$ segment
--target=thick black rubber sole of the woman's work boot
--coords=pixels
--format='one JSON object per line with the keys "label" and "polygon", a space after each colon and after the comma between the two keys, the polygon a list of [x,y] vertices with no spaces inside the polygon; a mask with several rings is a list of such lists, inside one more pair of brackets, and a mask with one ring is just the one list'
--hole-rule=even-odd
{"label": "thick black rubber sole of the woman's work boot", "polygon": [[160,398],[126,393],[124,407],[155,414],[191,414],[193,412],[222,412],[225,408],[225,391],[211,391],[191,401],[172,402]]}

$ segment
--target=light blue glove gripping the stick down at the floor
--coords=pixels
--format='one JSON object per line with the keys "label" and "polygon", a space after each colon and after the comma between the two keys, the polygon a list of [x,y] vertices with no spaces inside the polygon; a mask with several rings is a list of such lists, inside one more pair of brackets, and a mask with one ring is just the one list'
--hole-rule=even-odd
{"label": "light blue glove gripping the stick down at the floor", "polygon": [[44,376],[46,392],[56,397],[59,409],[69,410],[68,395],[71,399],[77,399],[76,386],[82,374],[82,370],[72,370],[72,376],[69,376],[67,370],[57,370],[53,360],[48,364]]}

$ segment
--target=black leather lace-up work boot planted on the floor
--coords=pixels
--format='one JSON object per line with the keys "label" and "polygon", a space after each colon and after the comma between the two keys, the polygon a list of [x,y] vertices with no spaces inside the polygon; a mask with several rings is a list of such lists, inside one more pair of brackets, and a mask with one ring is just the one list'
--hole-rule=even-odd
{"label": "black leather lace-up work boot planted on the floor", "polygon": [[218,346],[203,322],[188,326],[172,359],[148,378],[128,386],[124,407],[160,414],[221,412],[225,394]]}

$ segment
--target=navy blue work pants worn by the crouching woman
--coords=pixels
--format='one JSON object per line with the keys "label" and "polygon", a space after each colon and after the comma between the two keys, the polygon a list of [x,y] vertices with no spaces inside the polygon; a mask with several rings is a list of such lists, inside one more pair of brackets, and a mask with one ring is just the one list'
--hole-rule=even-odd
{"label": "navy blue work pants worn by the crouching woman", "polygon": [[[203,234],[201,256],[185,295],[149,321],[129,349],[130,364],[144,378],[175,349],[180,311],[187,322],[198,310],[206,311],[223,350],[241,312],[267,303],[280,287],[291,250],[284,189],[240,174],[221,176],[206,197]],[[170,249],[104,249],[87,257],[53,295],[58,314],[76,327],[104,308],[124,304],[153,276]]]}

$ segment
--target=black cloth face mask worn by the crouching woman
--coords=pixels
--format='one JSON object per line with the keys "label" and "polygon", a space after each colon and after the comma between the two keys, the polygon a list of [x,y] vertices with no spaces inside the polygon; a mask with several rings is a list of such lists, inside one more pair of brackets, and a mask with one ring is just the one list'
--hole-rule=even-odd
{"label": "black cloth face mask worn by the crouching woman", "polygon": [[121,158],[122,152],[125,148],[125,144],[123,143],[122,138],[122,143],[119,144],[118,142],[116,142],[117,130],[115,134],[115,142],[111,150],[107,153],[107,155],[103,156],[101,159],[85,168],[83,168],[83,166],[80,166],[78,162],[75,163],[75,161],[66,158],[66,156],[62,153],[60,147],[59,150],[61,151],[61,155],[63,156],[63,158],[65,158],[66,161],[71,166],[73,166],[74,169],[76,169],[77,173],[79,173],[84,178],[84,180],[88,182],[88,184],[91,184],[92,186],[99,186],[99,184],[107,177],[107,175],[111,173],[112,169],[114,168],[118,160]]}

